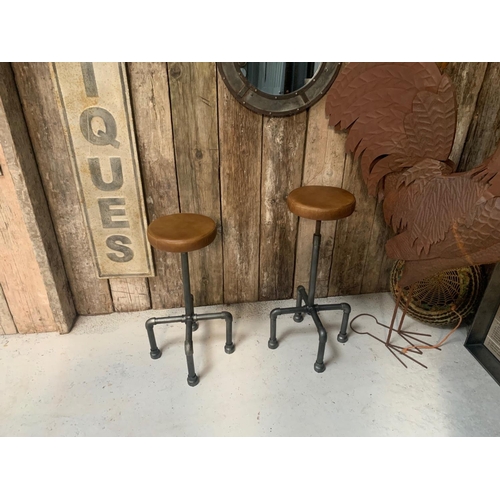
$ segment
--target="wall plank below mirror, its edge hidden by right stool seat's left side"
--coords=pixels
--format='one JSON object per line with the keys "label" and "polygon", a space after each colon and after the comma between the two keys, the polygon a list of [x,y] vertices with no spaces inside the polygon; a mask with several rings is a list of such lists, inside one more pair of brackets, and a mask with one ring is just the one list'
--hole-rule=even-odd
{"label": "wall plank below mirror, its edge hidden by right stool seat's left side", "polygon": [[298,217],[286,197],[300,187],[307,113],[264,118],[260,220],[260,300],[293,294]]}

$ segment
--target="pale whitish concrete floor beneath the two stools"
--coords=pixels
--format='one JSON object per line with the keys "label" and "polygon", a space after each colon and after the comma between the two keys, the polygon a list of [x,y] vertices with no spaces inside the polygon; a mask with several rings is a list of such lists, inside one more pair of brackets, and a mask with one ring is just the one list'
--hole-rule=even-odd
{"label": "pale whitish concrete floor beneath the two stools", "polygon": [[[389,294],[343,300],[351,317],[372,312],[390,321]],[[340,299],[318,302],[327,301]],[[224,322],[202,322],[194,333],[200,376],[194,388],[186,383],[183,325],[158,326],[163,356],[149,357],[144,321],[164,311],[80,317],[68,335],[2,336],[0,435],[500,435],[500,387],[463,347],[464,329],[441,352],[419,357],[428,369],[411,362],[405,369],[366,335],[351,332],[347,344],[337,343],[341,313],[323,313],[327,369],[317,374],[310,317],[301,324],[280,317],[280,346],[267,347],[269,311],[292,304],[227,306],[235,318],[231,355],[224,352]],[[405,326],[434,333],[436,341],[446,333],[411,319]]]}

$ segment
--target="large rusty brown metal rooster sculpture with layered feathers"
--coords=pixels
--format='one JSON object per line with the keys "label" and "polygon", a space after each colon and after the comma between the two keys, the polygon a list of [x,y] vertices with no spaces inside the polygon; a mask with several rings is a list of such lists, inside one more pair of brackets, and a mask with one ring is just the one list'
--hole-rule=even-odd
{"label": "large rusty brown metal rooster sculpture with layered feathers", "polygon": [[369,194],[383,199],[396,233],[387,256],[405,261],[401,287],[500,261],[500,148],[456,172],[455,91],[435,63],[350,63],[328,92],[326,115],[348,129],[346,150],[361,158]]}

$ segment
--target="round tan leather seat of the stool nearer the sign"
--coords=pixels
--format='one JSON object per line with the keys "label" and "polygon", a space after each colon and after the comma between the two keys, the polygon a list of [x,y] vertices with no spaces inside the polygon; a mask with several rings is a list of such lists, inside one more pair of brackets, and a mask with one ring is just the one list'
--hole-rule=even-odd
{"label": "round tan leather seat of the stool nearer the sign", "polygon": [[148,227],[151,246],[165,252],[192,252],[206,247],[217,235],[215,222],[205,215],[172,214],[159,217]]}

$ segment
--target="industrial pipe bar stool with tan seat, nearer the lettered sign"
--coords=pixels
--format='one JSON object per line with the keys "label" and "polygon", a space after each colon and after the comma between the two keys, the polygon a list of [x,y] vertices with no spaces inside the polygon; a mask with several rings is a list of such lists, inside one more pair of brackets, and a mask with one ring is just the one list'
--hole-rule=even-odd
{"label": "industrial pipe bar stool with tan seat, nearer the lettered sign", "polygon": [[227,354],[234,352],[233,344],[233,317],[231,313],[222,311],[220,313],[194,314],[193,296],[189,282],[188,252],[204,248],[217,235],[215,222],[204,215],[198,214],[172,214],[165,215],[153,221],[148,227],[148,240],[151,246],[165,252],[177,252],[181,254],[182,284],[184,287],[184,307],[186,313],[182,316],[171,316],[162,318],[150,318],[146,321],[149,343],[151,345],[150,355],[153,359],[161,357],[161,351],[156,345],[153,328],[155,325],[164,323],[185,323],[186,341],[184,349],[188,365],[188,384],[194,387],[199,378],[196,375],[193,361],[193,331],[198,329],[198,321],[204,319],[226,320],[226,345],[224,350]]}

